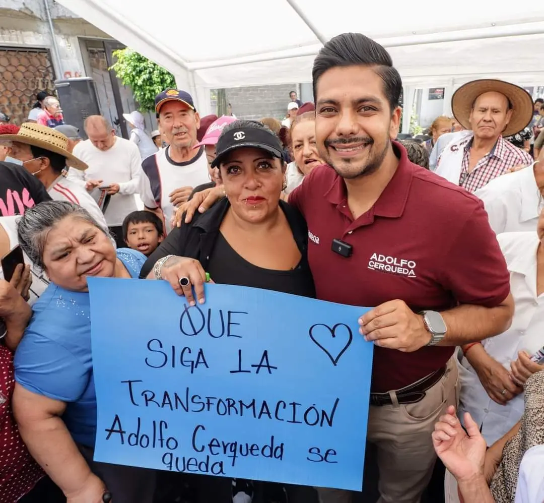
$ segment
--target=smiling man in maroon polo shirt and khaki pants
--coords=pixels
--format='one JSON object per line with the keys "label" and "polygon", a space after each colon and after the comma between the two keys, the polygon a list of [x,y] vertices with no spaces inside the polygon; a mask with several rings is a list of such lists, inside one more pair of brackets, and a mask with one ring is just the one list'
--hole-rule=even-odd
{"label": "smiling man in maroon polo shirt and khaki pants", "polygon": [[[360,331],[376,346],[368,441],[379,503],[418,503],[435,463],[434,424],[457,401],[455,346],[508,328],[508,270],[481,201],[393,141],[401,80],[382,46],[361,34],[333,38],[314,62],[313,90],[327,165],[289,203],[308,223],[317,297],[376,306]],[[323,503],[351,500],[319,492]]]}

